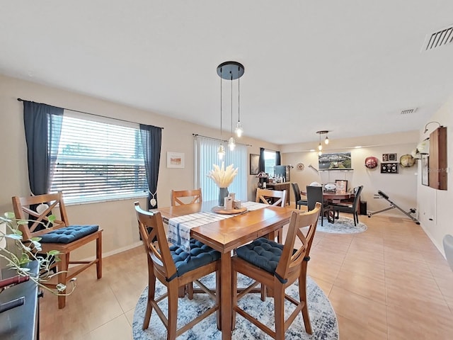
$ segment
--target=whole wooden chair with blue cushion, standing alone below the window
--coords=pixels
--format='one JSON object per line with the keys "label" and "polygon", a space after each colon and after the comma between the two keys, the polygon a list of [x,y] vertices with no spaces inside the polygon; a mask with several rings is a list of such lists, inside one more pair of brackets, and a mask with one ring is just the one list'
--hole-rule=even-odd
{"label": "whole wooden chair with blue cushion, standing alone below the window", "polygon": [[[102,232],[98,225],[70,225],[66,208],[64,206],[63,194],[47,193],[28,197],[14,196],[13,210],[16,219],[30,220],[28,224],[19,224],[23,240],[30,240],[33,237],[40,237],[41,250],[44,254],[48,251],[59,251],[59,261],[55,261],[57,267],[57,283],[43,282],[50,288],[56,288],[59,284],[66,285],[75,278],[81,271],[96,264],[97,278],[102,277]],[[48,224],[49,215],[55,215],[57,219],[52,225]],[[93,260],[72,261],[71,251],[78,249],[89,242],[96,241],[96,255]],[[80,266],[70,265],[76,264]],[[58,308],[66,305],[65,291],[58,295]]]}

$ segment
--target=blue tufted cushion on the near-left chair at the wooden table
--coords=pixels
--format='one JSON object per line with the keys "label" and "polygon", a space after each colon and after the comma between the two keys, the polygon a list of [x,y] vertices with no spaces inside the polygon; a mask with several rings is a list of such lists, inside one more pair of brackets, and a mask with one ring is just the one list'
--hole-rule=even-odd
{"label": "blue tufted cushion on the near-left chair at the wooden table", "polygon": [[190,253],[180,249],[179,246],[170,246],[170,253],[178,276],[220,259],[219,251],[196,239],[190,239]]}

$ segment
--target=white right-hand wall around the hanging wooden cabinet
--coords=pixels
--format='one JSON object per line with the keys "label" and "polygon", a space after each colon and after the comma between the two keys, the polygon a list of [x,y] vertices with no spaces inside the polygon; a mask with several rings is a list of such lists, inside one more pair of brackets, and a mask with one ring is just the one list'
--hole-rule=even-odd
{"label": "white right-hand wall around the hanging wooden cabinet", "polygon": [[[453,96],[432,115],[430,121],[437,121],[447,127],[447,190],[435,190],[428,186],[422,186],[418,180],[418,210],[420,211],[420,222],[426,234],[437,246],[442,254],[444,253],[442,239],[445,234],[453,234],[452,222],[452,203],[453,203]],[[426,122],[426,123],[428,123]],[[428,132],[423,134],[424,129],[420,129],[420,140],[429,137],[430,132],[437,128],[437,124],[428,125]],[[432,220],[430,220],[432,219]]]}

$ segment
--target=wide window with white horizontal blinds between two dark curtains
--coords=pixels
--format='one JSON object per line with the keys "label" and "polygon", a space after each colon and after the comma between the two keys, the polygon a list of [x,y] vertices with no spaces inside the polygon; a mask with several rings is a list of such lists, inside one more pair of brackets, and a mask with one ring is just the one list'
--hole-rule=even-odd
{"label": "wide window with white horizontal blinds between two dark curtains", "polygon": [[62,191],[67,203],[146,194],[139,126],[88,118],[64,113],[59,143],[52,143],[58,156],[51,191]]}

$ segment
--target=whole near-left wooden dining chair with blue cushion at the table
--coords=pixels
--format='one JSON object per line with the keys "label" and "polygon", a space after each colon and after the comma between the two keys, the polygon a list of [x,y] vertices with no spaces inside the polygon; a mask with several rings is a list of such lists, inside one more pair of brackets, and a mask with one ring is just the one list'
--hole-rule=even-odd
{"label": "whole near-left wooden dining chair with blue cushion at the table", "polygon": [[[142,329],[149,327],[151,312],[154,308],[167,329],[167,340],[174,340],[202,319],[217,312],[217,328],[220,329],[219,315],[219,268],[220,253],[210,246],[195,239],[190,239],[190,254],[179,246],[169,246],[160,212],[142,210],[138,202],[134,203],[139,232],[147,251],[148,260],[148,297],[147,310],[144,315]],[[156,239],[155,242],[153,240]],[[216,274],[216,292],[212,293],[199,279],[210,273]],[[156,278],[166,287],[167,293],[155,296]],[[197,315],[195,319],[177,329],[178,288],[192,282],[214,300],[214,305]],[[168,299],[168,313],[164,314],[158,303]],[[189,297],[190,298],[190,297]],[[193,315],[191,315],[193,316]]]}

